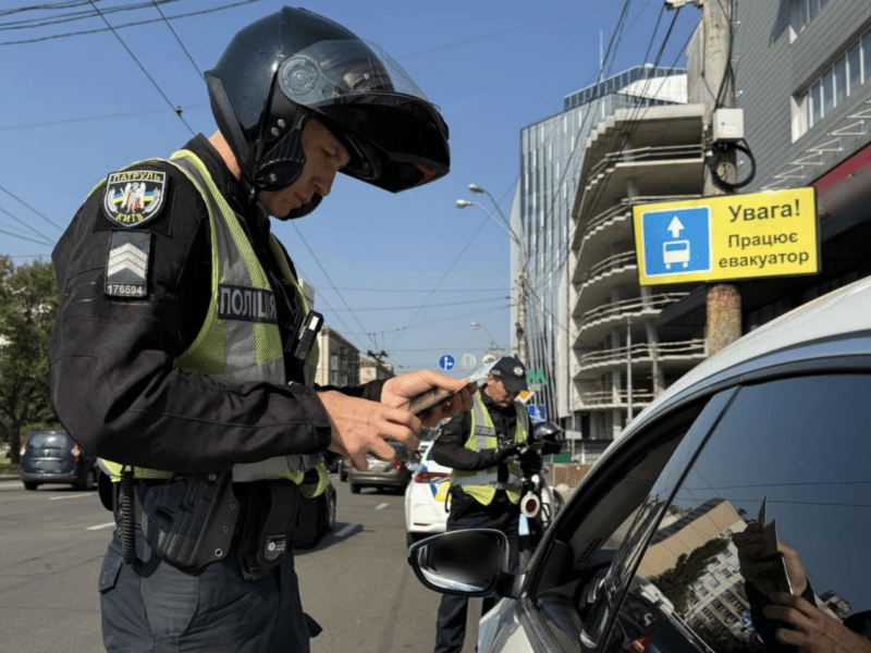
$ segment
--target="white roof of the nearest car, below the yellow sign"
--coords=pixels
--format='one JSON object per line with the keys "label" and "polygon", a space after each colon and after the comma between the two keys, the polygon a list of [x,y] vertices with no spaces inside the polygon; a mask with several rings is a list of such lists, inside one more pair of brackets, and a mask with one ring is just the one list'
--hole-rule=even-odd
{"label": "white roof of the nearest car, below the yellow sign", "polygon": [[871,278],[861,279],[772,320],[702,361],[657,397],[621,439],[682,395],[760,368],[871,354]]}

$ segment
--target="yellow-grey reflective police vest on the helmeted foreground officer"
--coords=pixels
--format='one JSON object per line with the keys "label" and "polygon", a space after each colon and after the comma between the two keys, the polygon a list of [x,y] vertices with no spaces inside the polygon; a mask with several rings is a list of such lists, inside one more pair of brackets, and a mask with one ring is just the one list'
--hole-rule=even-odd
{"label": "yellow-grey reflective police vest on the helmeted foreground officer", "polygon": [[[127,169],[158,161],[139,161]],[[206,165],[193,152],[180,150],[172,155],[169,163],[187,176],[206,202],[211,227],[212,263],[211,298],[206,321],[192,345],[173,361],[173,366],[186,372],[208,374],[229,384],[247,381],[286,383],[274,295],[238,218],[218,190]],[[293,275],[284,250],[272,234],[269,246],[282,274],[296,288],[300,305],[308,315],[305,294]],[[232,319],[234,315],[246,319]],[[314,381],[317,365],[316,342],[305,362],[306,383]],[[121,465],[109,460],[102,463],[112,480],[120,478]],[[303,483],[305,472],[309,469],[318,470],[318,480]],[[161,479],[170,478],[172,472],[136,467],[134,476]],[[299,484],[306,497],[322,493],[329,482],[320,454],[279,456],[233,467],[234,481],[258,479],[289,479]]]}

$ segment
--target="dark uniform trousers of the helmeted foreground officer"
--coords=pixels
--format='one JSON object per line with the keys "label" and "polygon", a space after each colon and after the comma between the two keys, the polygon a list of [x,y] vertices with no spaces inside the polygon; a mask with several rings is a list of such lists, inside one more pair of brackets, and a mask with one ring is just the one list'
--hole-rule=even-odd
{"label": "dark uniform trousers of the helmeted foreground officer", "polygon": [[137,526],[136,562],[123,562],[120,531],[100,570],[103,645],[109,653],[308,653],[320,626],[303,613],[293,552],[248,581],[235,560],[186,571],[155,555]]}

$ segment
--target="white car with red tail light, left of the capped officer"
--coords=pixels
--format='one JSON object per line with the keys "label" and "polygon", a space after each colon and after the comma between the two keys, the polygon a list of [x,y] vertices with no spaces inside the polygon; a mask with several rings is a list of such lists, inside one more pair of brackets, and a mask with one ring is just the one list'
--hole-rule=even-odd
{"label": "white car with red tail light, left of the capped officer", "polygon": [[405,533],[409,545],[424,535],[444,532],[444,502],[451,478],[451,468],[432,459],[432,441],[421,441],[416,453],[420,460],[405,488]]}

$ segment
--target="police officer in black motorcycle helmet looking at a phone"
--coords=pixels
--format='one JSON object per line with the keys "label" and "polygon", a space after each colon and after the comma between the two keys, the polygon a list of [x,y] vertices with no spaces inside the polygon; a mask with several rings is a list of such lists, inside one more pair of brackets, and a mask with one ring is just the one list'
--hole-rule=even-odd
{"label": "police officer in black motorcycle helmet looking at a phone", "polygon": [[53,252],[51,398],[115,481],[107,650],[308,651],[291,549],[322,455],[366,469],[394,457],[384,439],[416,448],[409,399],[463,381],[315,386],[321,319],[269,215],[311,212],[340,171],[391,192],[439,178],[447,127],[395,62],[303,9],[243,28],[206,79],[219,131],[110,174]]}

